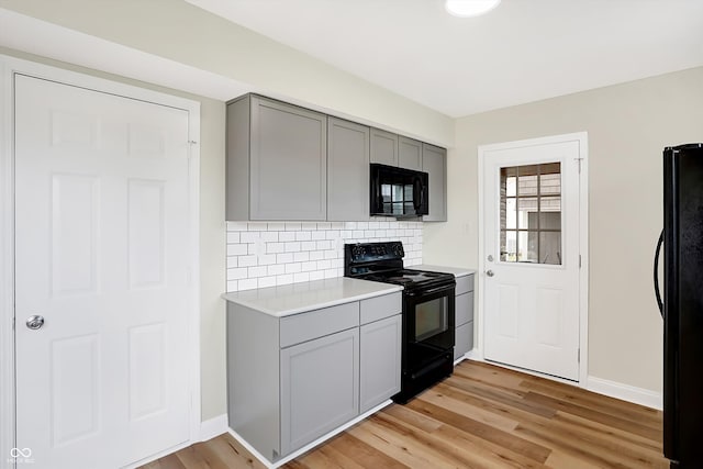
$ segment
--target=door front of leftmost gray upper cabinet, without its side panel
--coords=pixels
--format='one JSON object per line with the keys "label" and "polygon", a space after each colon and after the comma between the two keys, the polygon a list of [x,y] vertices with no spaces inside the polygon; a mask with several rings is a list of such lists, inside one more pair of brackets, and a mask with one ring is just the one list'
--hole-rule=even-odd
{"label": "door front of leftmost gray upper cabinet, without its side panel", "polygon": [[252,98],[250,220],[325,220],[327,116]]}

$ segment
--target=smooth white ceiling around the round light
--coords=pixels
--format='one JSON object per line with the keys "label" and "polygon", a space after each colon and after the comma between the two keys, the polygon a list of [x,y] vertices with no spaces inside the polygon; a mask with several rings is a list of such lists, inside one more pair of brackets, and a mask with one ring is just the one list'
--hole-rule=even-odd
{"label": "smooth white ceiling around the round light", "polygon": [[453,118],[703,65],[702,0],[187,1]]}

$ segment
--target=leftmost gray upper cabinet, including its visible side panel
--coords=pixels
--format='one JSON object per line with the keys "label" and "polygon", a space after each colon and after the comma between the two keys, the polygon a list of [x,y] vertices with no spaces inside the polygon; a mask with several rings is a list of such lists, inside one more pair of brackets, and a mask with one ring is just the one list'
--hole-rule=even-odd
{"label": "leftmost gray upper cabinet, including its visible side panel", "polygon": [[325,220],[327,116],[247,94],[227,103],[227,220]]}

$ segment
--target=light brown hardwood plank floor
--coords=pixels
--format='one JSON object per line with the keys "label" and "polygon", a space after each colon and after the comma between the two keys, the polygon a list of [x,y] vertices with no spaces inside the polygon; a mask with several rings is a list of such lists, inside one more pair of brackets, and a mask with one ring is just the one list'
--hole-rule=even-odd
{"label": "light brown hardwood plank floor", "polygon": [[[476,361],[406,405],[283,466],[313,468],[668,468],[661,412]],[[146,469],[264,468],[230,435]]]}

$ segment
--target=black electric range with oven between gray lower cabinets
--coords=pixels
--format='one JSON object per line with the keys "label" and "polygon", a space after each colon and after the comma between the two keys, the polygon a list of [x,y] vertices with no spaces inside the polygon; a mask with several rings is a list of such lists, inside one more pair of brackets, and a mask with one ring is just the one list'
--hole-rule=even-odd
{"label": "black electric range with oven between gray lower cabinets", "polygon": [[346,244],[344,275],[403,287],[401,391],[405,403],[454,367],[455,287],[451,273],[406,269],[401,242]]}

